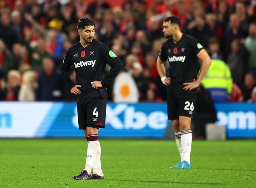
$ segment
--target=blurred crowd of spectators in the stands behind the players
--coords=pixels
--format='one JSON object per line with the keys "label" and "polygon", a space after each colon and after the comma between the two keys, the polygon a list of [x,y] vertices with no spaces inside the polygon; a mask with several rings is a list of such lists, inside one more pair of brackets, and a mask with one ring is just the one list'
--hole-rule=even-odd
{"label": "blurred crowd of spectators in the stands behind the players", "polygon": [[[183,33],[195,37],[212,59],[202,85],[214,102],[256,102],[256,0],[0,0],[0,100],[70,101],[60,65],[80,40],[77,21],[95,22],[95,39],[123,62],[138,100],[166,100],[156,61],[163,19],[176,15]],[[168,69],[168,63],[166,63]],[[105,72],[107,73],[107,66]],[[70,78],[75,83],[74,70]],[[113,84],[108,100],[113,100]]]}

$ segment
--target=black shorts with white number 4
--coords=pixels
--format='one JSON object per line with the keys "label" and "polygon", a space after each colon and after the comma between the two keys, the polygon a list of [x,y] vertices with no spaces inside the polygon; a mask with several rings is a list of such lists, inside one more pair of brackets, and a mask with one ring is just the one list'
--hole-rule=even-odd
{"label": "black shorts with white number 4", "polygon": [[83,98],[77,101],[79,129],[105,128],[107,98]]}

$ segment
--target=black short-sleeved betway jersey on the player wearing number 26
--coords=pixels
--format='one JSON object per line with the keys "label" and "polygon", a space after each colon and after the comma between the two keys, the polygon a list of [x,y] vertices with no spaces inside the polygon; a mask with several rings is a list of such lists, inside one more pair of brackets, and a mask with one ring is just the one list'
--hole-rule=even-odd
{"label": "black short-sleeved betway jersey on the player wearing number 26", "polygon": [[[202,45],[195,38],[186,34],[183,34],[176,44],[172,39],[164,42],[159,57],[163,62],[167,60],[170,64],[168,74],[171,78],[171,84],[168,89],[177,92],[189,92],[183,89],[183,84],[197,79],[200,69],[197,54],[202,49]],[[195,88],[190,92],[196,91]]]}

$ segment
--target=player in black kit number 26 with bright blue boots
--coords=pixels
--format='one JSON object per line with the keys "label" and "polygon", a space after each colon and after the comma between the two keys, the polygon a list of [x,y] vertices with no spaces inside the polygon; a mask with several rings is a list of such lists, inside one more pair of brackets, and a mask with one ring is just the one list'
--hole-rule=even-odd
{"label": "player in black kit number 26 with bright blue boots", "polygon": [[[157,70],[167,86],[167,114],[172,120],[181,156],[181,162],[170,168],[191,168],[191,116],[197,87],[206,76],[211,59],[195,38],[181,32],[180,26],[181,21],[176,16],[164,19],[163,33],[168,40],[164,42],[157,59]],[[202,62],[201,69],[198,59]],[[170,65],[168,78],[164,67],[166,60]]]}

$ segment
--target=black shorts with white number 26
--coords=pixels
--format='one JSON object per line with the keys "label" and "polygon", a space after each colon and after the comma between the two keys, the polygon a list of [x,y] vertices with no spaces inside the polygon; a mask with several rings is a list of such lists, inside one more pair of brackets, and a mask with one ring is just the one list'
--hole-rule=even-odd
{"label": "black shorts with white number 26", "polygon": [[192,117],[196,93],[194,92],[167,92],[167,113],[168,119],[179,119],[179,116]]}

